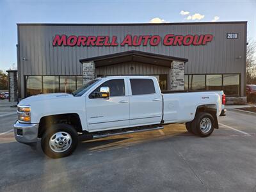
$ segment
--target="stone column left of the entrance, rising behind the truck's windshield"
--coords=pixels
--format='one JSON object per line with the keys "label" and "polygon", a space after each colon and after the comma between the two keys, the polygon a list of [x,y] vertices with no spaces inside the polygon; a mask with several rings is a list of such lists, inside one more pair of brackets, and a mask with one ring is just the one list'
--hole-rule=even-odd
{"label": "stone column left of the entrance, rising behind the truck's windshield", "polygon": [[83,84],[95,79],[95,77],[95,63],[93,61],[83,63]]}

